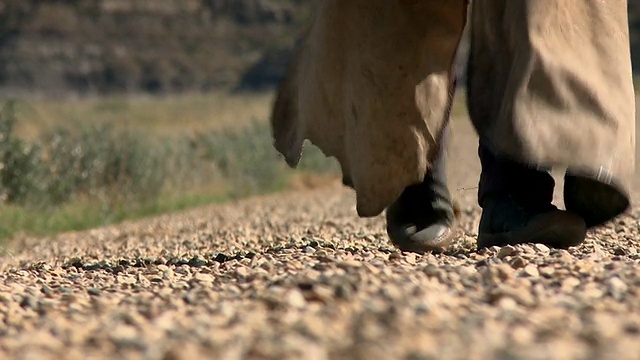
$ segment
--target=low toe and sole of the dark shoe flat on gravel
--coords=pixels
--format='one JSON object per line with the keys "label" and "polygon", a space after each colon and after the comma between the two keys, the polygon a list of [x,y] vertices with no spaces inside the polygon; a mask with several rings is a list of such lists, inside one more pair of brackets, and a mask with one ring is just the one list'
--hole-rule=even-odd
{"label": "low toe and sole of the dark shoe flat on gravel", "polygon": [[587,225],[580,216],[570,212],[555,212],[541,215],[519,230],[498,234],[481,233],[478,235],[478,248],[536,243],[566,249],[580,245],[586,234]]}

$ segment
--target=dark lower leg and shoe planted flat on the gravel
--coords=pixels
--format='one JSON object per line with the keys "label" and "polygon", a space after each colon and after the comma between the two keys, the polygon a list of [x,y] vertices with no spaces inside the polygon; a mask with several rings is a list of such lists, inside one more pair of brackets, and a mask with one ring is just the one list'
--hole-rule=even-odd
{"label": "dark lower leg and shoe planted flat on the gravel", "polygon": [[555,183],[548,171],[496,155],[482,143],[478,155],[479,248],[520,243],[564,248],[584,240],[584,221],[552,204]]}

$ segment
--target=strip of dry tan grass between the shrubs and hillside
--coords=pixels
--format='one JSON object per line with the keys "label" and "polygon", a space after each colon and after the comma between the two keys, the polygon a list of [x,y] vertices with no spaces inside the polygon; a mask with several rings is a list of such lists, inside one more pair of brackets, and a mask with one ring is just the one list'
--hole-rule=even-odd
{"label": "strip of dry tan grass between the shrubs and hillside", "polygon": [[16,103],[17,134],[34,139],[52,127],[110,124],[118,129],[156,135],[202,132],[265,120],[271,93],[112,96],[67,101],[22,100]]}

